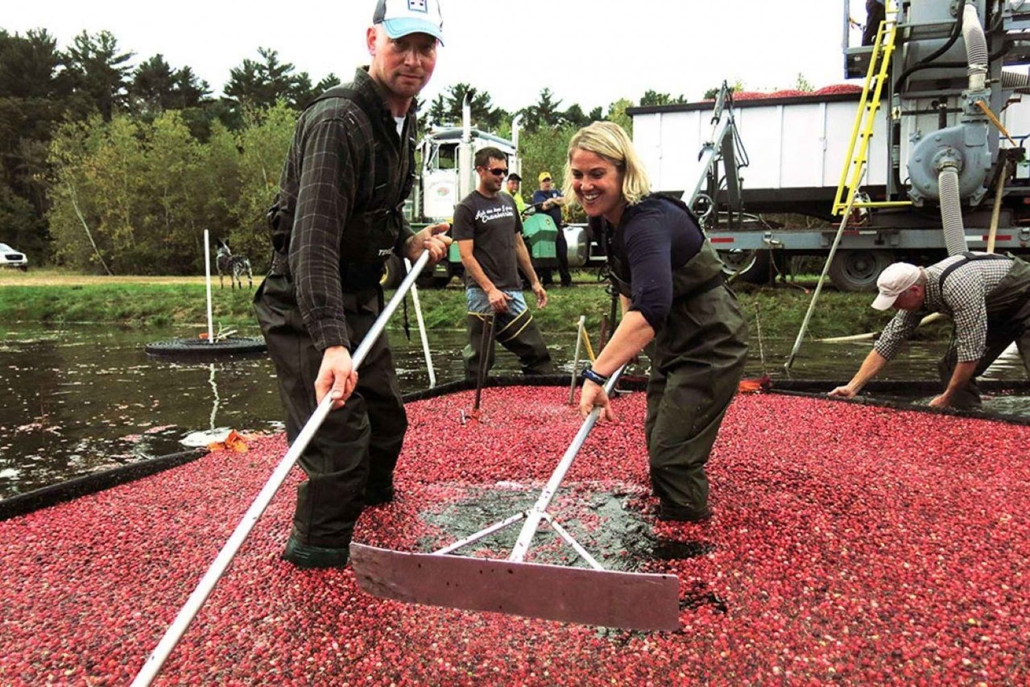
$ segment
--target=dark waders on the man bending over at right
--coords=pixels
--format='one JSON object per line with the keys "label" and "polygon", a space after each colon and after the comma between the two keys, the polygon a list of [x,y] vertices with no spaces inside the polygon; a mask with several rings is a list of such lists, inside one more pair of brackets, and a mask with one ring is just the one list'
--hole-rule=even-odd
{"label": "dark waders on the man bending over at right", "polygon": [[[940,273],[940,290],[943,294],[945,282],[958,269],[971,262],[982,260],[1011,261],[1012,266],[1001,281],[987,295],[987,341],[984,355],[976,365],[972,378],[959,389],[953,400],[955,408],[978,408],[981,405],[980,387],[976,377],[984,374],[1008,346],[1016,342],[1023,358],[1023,366],[1030,373],[1030,265],[1015,255],[963,253],[964,260],[958,260],[949,265]],[[945,356],[937,364],[937,373],[946,387],[951,381],[955,366],[958,364],[957,339],[952,335],[952,342]]]}

